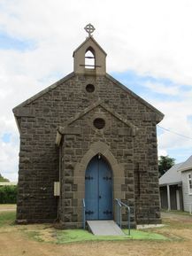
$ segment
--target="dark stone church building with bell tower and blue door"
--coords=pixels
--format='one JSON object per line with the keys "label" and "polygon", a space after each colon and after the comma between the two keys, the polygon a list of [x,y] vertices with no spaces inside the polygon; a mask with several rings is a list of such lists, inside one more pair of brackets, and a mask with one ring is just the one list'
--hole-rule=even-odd
{"label": "dark stone church building with bell tower and blue door", "polygon": [[[159,223],[157,123],[164,115],[106,73],[106,53],[88,32],[73,73],[13,109],[20,135],[18,223],[116,220]],[[122,212],[127,222],[127,213]]]}

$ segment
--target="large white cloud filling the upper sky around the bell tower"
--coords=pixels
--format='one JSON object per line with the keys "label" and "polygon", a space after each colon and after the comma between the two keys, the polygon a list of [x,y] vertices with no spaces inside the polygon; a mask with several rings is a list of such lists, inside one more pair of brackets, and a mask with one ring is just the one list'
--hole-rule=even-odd
{"label": "large white cloud filling the upper sky around the bell tower", "polygon": [[64,73],[69,71],[71,54],[85,37],[82,28],[90,21],[96,27],[96,39],[108,52],[109,71],[133,69],[140,74],[191,85],[190,0],[121,0],[121,4],[112,0],[6,0],[3,3],[6,12],[1,13],[2,27],[11,35],[35,40],[34,61],[28,61],[27,65],[41,67],[40,72],[45,60],[47,71],[53,63],[59,66],[59,71],[62,68]]}

